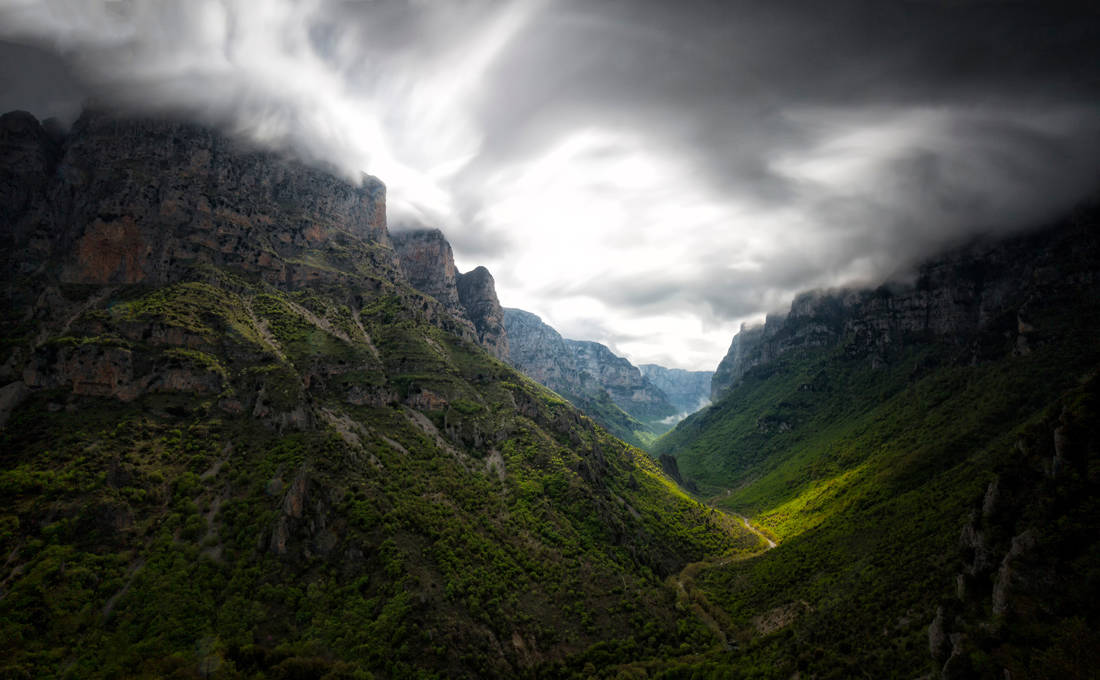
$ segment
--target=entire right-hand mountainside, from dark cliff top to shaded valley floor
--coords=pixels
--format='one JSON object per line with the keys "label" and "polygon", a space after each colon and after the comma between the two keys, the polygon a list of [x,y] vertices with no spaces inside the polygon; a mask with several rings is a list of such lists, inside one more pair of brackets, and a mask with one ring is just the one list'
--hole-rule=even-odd
{"label": "entire right-hand mountainside, from dark cliff top to shaded valley floor", "polygon": [[743,670],[1092,677],[1097,217],[802,296],[735,339],[721,398],[656,448],[780,544],[695,578]]}

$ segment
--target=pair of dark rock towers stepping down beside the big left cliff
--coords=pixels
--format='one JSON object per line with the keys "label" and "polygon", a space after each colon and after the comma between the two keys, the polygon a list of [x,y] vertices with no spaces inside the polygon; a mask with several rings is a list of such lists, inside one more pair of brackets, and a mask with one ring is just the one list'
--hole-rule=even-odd
{"label": "pair of dark rock towers stepping down beside the big left cliff", "polygon": [[470,332],[491,354],[505,361],[508,337],[493,275],[483,266],[462,274],[454,267],[451,244],[438,229],[393,234],[402,273],[418,290],[442,303],[469,323]]}

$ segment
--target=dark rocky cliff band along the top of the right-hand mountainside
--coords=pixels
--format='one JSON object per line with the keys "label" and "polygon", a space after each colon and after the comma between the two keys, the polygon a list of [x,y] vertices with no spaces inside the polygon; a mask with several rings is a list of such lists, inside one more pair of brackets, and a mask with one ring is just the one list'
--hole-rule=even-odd
{"label": "dark rocky cliff band along the top of the right-hand mountainside", "polygon": [[915,283],[877,289],[804,293],[787,315],[741,327],[712,381],[719,398],[755,366],[788,352],[840,347],[873,365],[906,342],[937,339],[966,346],[978,360],[991,348],[977,333],[1003,334],[1012,351],[1030,351],[1028,309],[1094,281],[1098,238],[1088,209],[1066,223],[997,243],[979,242],[923,264]]}

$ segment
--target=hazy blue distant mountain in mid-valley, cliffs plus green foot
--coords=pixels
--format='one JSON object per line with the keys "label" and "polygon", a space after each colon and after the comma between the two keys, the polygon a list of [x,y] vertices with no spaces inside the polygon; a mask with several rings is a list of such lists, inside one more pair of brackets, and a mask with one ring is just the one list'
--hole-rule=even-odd
{"label": "hazy blue distant mountain in mid-valley, cliffs plus green foot", "polygon": [[504,310],[514,366],[562,395],[609,432],[648,446],[685,409],[642,372],[598,342],[569,340],[522,309]]}

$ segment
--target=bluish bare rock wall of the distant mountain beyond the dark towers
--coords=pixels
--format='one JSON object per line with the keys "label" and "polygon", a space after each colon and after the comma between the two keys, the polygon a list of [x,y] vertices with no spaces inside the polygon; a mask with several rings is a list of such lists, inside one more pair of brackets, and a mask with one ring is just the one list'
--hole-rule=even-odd
{"label": "bluish bare rock wall of the distant mountain beyond the dark towers", "polygon": [[644,424],[679,413],[637,366],[598,342],[562,338],[521,309],[504,310],[512,364],[569,398],[606,392],[624,412]]}

